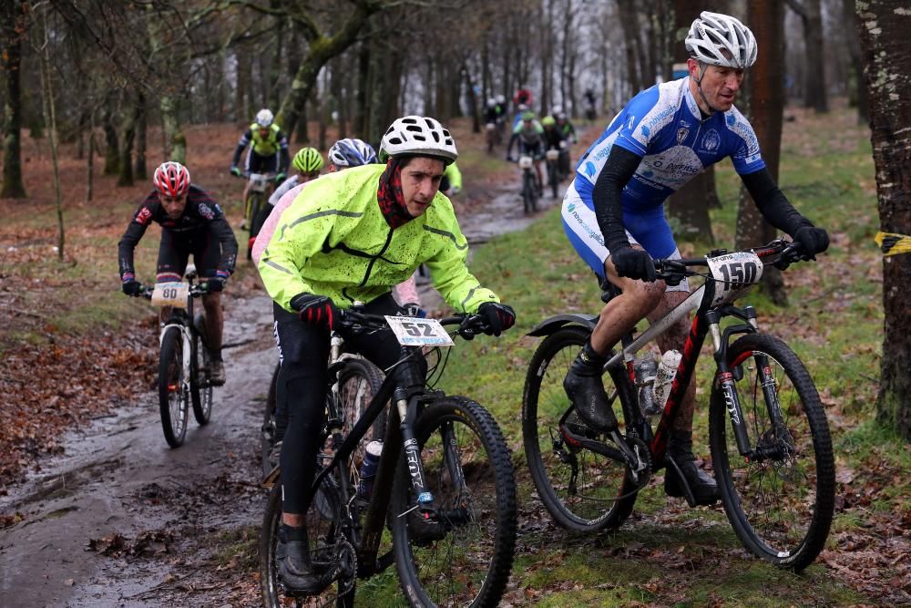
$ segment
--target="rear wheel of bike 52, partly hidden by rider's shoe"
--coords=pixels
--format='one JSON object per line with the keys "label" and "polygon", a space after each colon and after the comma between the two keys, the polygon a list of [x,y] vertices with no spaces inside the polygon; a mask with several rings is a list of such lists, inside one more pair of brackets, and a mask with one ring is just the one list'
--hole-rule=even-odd
{"label": "rear wheel of bike 52, partly hidden by rider's shoe", "polygon": [[[269,492],[266,512],[260,530],[260,594],[266,608],[287,606],[353,606],[354,584],[357,564],[347,539],[340,533],[340,500],[332,476],[323,480],[320,492],[311,501],[304,525],[310,540],[311,559],[314,562],[333,562],[338,559],[349,561],[343,564],[346,574],[342,579],[316,596],[303,596],[289,592],[279,575],[278,532],[281,522],[281,484],[275,484]],[[349,555],[351,552],[351,555]],[[349,560],[350,558],[350,560]]]}

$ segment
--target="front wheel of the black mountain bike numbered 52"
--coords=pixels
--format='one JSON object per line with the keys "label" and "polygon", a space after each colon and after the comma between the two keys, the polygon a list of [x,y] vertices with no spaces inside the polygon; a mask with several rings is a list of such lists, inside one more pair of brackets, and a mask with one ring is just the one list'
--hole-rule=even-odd
{"label": "front wheel of the black mountain bike numbered 52", "polygon": [[[421,520],[403,455],[395,476],[395,564],[413,606],[494,606],[516,551],[516,478],[490,414],[464,397],[442,397],[415,436],[437,517]],[[410,511],[410,512],[409,512]]]}

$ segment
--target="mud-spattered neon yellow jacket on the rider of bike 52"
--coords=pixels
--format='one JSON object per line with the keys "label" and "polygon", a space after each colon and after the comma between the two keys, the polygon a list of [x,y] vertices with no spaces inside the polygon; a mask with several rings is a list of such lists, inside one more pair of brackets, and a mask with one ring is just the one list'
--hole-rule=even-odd
{"label": "mud-spattered neon yellow jacket on the rider of bike 52", "polygon": [[499,302],[468,272],[468,242],[452,203],[437,192],[420,217],[395,230],[376,201],[384,165],[331,173],[302,189],[281,214],[258,265],[273,300],[291,311],[297,294],[322,294],[347,308],[368,303],[402,283],[421,263],[456,311],[476,313]]}

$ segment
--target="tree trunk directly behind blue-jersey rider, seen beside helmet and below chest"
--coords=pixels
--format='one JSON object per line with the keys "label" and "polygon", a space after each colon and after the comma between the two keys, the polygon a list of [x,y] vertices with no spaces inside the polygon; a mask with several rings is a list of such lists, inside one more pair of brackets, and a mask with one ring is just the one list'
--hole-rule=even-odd
{"label": "tree trunk directly behind blue-jersey rider, seen beside helmet and below chest", "polygon": [[[693,19],[699,16],[702,4],[693,0],[677,0],[674,7],[677,32],[686,35]],[[674,58],[677,62],[687,59],[686,46],[683,40],[674,45]],[[681,224],[681,229],[688,237],[698,236],[702,241],[715,242],[711,233],[709,205],[718,201],[715,193],[714,166],[710,165],[699,175],[687,182],[679,191],[668,199],[665,208],[671,218]]]}

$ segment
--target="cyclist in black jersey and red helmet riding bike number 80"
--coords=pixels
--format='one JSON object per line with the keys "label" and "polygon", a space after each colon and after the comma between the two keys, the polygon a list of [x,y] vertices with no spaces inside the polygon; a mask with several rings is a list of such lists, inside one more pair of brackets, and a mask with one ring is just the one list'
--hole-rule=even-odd
{"label": "cyclist in black jersey and red helmet riding bike number 80", "polygon": [[219,204],[209,192],[189,181],[189,171],[179,162],[162,163],[155,170],[155,190],[142,201],[118,243],[118,263],[123,293],[136,296],[141,283],[136,280],[133,251],[149,224],[161,226],[156,283],[180,281],[187,269],[189,254],[200,277],[209,283],[202,296],[206,310],[206,345],[210,350],[210,382],[225,383],[221,360],[221,290],[234,272],[237,240]]}

